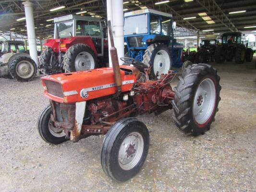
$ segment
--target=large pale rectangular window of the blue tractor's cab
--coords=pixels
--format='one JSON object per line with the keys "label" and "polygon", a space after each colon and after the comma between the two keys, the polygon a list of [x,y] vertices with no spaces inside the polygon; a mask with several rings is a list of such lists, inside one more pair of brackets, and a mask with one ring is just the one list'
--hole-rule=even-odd
{"label": "large pale rectangular window of the blue tractor's cab", "polygon": [[123,32],[125,36],[147,33],[147,14],[125,17]]}

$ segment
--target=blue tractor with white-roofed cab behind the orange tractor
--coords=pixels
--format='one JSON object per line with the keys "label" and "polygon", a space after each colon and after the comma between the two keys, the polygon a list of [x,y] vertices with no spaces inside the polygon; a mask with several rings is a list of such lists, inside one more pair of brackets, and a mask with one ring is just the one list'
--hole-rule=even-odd
{"label": "blue tractor with white-roofed cab behind the orange tractor", "polygon": [[172,15],[152,9],[124,14],[125,57],[133,58],[151,67],[156,77],[172,67],[182,66],[183,45],[173,36],[175,22]]}

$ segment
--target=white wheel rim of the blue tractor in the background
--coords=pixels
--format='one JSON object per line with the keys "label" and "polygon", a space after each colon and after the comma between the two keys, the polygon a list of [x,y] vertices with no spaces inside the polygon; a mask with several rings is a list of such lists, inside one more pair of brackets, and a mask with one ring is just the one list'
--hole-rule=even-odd
{"label": "white wheel rim of the blue tractor in the background", "polygon": [[171,60],[169,54],[165,50],[159,50],[154,59],[154,72],[155,75],[158,72],[160,74],[166,74],[170,70]]}

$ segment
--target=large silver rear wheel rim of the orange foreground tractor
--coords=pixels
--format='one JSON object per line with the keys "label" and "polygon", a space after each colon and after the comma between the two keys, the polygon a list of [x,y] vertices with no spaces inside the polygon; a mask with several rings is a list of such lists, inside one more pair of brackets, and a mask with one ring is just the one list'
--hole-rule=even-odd
{"label": "large silver rear wheel rim of the orange foreground tractor", "polygon": [[211,117],[216,100],[216,89],[213,80],[204,79],[198,86],[193,103],[193,116],[198,124],[204,124]]}

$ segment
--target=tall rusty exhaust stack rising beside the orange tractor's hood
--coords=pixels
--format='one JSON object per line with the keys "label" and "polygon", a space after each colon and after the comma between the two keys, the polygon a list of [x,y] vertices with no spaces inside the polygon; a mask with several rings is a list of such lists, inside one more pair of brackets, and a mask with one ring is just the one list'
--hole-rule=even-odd
{"label": "tall rusty exhaust stack rising beside the orange tractor's hood", "polygon": [[112,67],[114,71],[114,76],[115,76],[115,84],[117,86],[117,95],[120,95],[121,93],[121,86],[122,86],[122,79],[121,79],[121,72],[120,72],[120,67],[119,67],[119,61],[118,61],[118,55],[117,55],[117,50],[114,45],[114,39],[113,39],[113,34],[112,34],[112,27],[111,27],[111,22],[108,21],[108,28],[109,28],[109,40],[111,44],[110,48],[110,56],[112,60]]}

